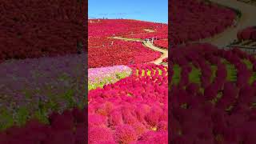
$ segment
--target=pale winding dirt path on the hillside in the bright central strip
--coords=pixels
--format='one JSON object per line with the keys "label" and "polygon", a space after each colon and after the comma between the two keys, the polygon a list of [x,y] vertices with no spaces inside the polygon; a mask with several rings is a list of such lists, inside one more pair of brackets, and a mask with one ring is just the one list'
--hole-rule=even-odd
{"label": "pale winding dirt path on the hillside in the bright central strip", "polygon": [[151,50],[155,50],[155,51],[159,51],[160,53],[162,53],[162,56],[156,60],[154,60],[153,62],[151,63],[154,63],[154,64],[157,64],[159,65],[162,60],[164,58],[168,58],[168,50],[164,50],[164,49],[161,49],[157,46],[154,46],[151,42],[149,41],[144,41],[142,39],[138,39],[138,38],[122,38],[122,37],[112,37],[112,38],[115,38],[115,39],[120,39],[120,40],[123,40],[123,41],[134,41],[134,42],[142,42],[144,46],[150,48]]}

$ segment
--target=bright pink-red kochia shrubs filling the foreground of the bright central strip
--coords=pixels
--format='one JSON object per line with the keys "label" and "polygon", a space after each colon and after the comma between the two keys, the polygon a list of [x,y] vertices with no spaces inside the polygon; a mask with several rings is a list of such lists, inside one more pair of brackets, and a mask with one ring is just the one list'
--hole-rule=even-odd
{"label": "bright pink-red kochia shrubs filling the foreground of the bright central strip", "polygon": [[[133,70],[130,77],[89,91],[89,129],[99,126],[110,130],[115,143],[159,140],[165,143],[168,139],[167,67],[143,64],[130,68]],[[149,131],[154,137],[143,136]],[[97,142],[101,140],[95,138],[94,143]]]}

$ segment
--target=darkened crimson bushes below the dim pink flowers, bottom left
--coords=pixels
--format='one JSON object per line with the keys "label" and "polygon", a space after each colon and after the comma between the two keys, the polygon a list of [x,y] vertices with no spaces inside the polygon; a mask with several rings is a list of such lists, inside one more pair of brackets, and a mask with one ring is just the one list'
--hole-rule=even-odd
{"label": "darkened crimson bushes below the dim pink flowers, bottom left", "polygon": [[[13,126],[1,132],[0,143],[84,143],[86,118],[82,117],[85,117],[85,114],[85,110],[78,109],[66,110],[62,114],[54,113],[50,115],[49,125],[31,119],[25,126]],[[84,121],[77,118],[82,118]]]}

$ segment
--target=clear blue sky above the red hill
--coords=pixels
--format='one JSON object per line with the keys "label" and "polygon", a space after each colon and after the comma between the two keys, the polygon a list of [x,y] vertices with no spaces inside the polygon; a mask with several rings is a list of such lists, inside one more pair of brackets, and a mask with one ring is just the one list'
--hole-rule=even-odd
{"label": "clear blue sky above the red hill", "polygon": [[88,0],[89,18],[168,22],[168,0]]}

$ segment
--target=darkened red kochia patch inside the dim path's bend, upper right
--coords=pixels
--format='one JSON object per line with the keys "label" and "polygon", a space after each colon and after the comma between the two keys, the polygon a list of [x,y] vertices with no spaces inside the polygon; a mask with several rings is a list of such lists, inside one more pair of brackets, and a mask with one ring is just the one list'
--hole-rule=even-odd
{"label": "darkened red kochia patch inside the dim path's bend, upper right", "polygon": [[231,26],[236,17],[233,10],[205,1],[171,0],[170,3],[171,26],[168,31],[172,45],[219,34]]}

